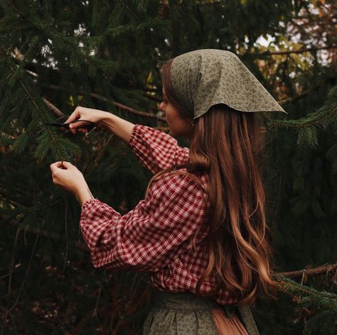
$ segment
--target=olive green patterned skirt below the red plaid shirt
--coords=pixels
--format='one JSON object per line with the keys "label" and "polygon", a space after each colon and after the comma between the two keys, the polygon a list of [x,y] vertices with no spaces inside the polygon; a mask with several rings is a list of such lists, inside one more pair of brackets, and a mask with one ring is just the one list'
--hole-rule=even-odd
{"label": "olive green patterned skirt below the red plaid shirt", "polygon": [[143,326],[143,335],[218,335],[212,309],[221,308],[226,317],[240,316],[249,335],[259,335],[248,306],[218,304],[211,297],[190,292],[154,291],[154,302]]}

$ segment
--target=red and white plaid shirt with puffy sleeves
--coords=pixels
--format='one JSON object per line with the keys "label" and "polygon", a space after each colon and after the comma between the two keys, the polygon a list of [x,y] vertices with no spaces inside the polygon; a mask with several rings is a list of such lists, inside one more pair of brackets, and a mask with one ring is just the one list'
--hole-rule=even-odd
{"label": "red and white plaid shirt with puffy sleeves", "polygon": [[[148,126],[136,124],[128,145],[153,173],[189,161],[188,148]],[[207,174],[198,178],[207,189]],[[87,200],[81,208],[80,230],[92,264],[149,272],[151,284],[159,290],[196,292],[208,263],[208,226],[204,224],[208,201],[203,192],[190,177],[171,171],[154,182],[145,199],[127,214],[119,214],[98,199]],[[208,278],[201,292],[209,292],[214,285],[214,278]],[[220,290],[215,300],[220,304],[237,301],[226,290]]]}

